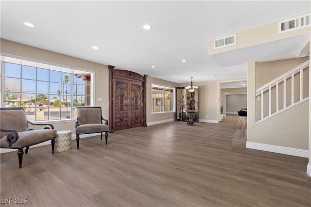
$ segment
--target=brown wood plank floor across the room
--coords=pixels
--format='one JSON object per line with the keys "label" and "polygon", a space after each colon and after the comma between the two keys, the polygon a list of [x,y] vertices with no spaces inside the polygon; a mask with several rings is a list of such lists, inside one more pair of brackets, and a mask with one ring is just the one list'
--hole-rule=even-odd
{"label": "brown wood plank floor across the room", "polygon": [[117,131],[54,155],[33,147],[21,169],[17,152],[1,154],[1,206],[310,207],[308,159],[233,146],[237,119]]}

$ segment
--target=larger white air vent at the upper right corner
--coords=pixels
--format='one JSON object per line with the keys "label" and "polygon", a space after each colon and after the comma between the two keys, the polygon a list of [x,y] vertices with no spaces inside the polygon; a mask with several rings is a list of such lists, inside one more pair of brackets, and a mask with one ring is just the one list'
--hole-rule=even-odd
{"label": "larger white air vent at the upper right corner", "polygon": [[298,30],[304,27],[310,27],[311,14],[296,16],[278,22],[278,33]]}

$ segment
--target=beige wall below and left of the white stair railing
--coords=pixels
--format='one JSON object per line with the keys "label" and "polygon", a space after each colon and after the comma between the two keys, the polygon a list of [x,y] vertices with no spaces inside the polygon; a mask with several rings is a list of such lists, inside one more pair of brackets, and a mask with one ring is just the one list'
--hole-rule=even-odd
{"label": "beige wall below and left of the white stair railing", "polygon": [[258,77],[256,77],[256,66],[255,62],[248,63],[247,142],[308,150],[309,101],[305,101],[290,110],[283,111],[264,122],[255,124],[255,93],[256,81],[258,80]]}

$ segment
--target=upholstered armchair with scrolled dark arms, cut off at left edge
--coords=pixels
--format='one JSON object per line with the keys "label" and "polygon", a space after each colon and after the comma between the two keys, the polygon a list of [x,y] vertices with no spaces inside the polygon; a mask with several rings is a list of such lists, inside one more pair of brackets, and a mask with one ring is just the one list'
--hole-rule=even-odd
{"label": "upholstered armchair with scrolled dark arms, cut off at left edge", "polygon": [[[57,131],[51,124],[35,124],[27,120],[26,113],[21,107],[0,108],[0,147],[17,149],[19,168],[23,159],[23,148],[28,153],[29,147],[38,143],[51,140],[52,154],[54,153],[54,138]],[[28,128],[28,124],[49,126],[44,129],[33,130]]]}

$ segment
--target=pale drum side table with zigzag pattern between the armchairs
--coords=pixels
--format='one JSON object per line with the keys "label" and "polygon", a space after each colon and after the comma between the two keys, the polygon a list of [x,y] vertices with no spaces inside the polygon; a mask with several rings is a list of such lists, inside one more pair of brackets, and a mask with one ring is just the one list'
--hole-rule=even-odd
{"label": "pale drum side table with zigzag pattern between the armchairs", "polygon": [[65,152],[71,149],[71,131],[57,131],[55,138],[55,152]]}

